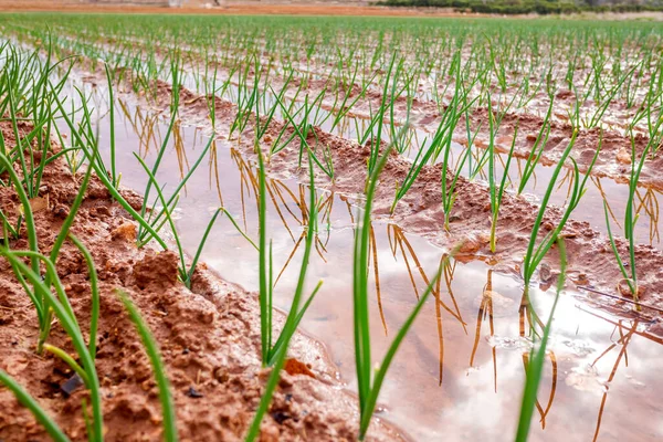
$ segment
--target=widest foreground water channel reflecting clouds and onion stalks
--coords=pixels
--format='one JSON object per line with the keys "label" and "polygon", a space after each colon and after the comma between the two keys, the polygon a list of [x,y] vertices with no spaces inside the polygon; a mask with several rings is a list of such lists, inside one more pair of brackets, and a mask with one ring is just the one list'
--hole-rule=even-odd
{"label": "widest foreground water channel reflecting clouds and onion stalks", "polygon": [[[123,103],[116,109],[116,143],[123,183],[141,191],[146,175],[133,158],[154,160],[166,124],[150,112]],[[107,155],[107,117],[101,120],[102,151]],[[158,175],[172,190],[182,170],[199,156],[208,138],[178,127]],[[252,238],[257,232],[254,165],[218,140],[182,192],[177,225],[185,246],[194,251],[202,231],[221,204]],[[277,305],[286,308],[294,292],[303,250],[297,240],[306,217],[307,187],[294,179],[270,179],[269,229],[273,238]],[[344,197],[318,191],[325,201],[308,285],[323,290],[303,327],[329,349],[341,377],[355,386],[351,325],[351,254],[357,208]],[[304,211],[304,212],[303,212]],[[443,250],[406,234],[396,225],[373,223],[371,251],[371,332],[378,361],[410,313]],[[288,260],[292,255],[292,261]],[[232,223],[220,217],[203,251],[203,261],[224,278],[257,288],[257,252]],[[283,269],[281,274],[281,269]],[[513,439],[530,348],[530,324],[522,308],[523,286],[514,275],[493,272],[481,262],[452,262],[436,299],[431,297],[388,373],[378,414],[414,440]],[[551,290],[533,288],[532,305],[546,318]],[[532,440],[656,440],[663,438],[663,396],[657,371],[662,339],[650,324],[619,319],[562,295],[549,346]],[[654,326],[656,327],[656,326]]]}

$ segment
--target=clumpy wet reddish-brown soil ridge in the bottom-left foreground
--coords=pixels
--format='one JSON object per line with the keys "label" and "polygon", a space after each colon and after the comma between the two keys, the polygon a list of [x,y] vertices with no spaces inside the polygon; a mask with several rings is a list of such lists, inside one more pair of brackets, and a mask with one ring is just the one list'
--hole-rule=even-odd
{"label": "clumpy wet reddish-brown soil ridge in the bottom-left foreground", "polygon": [[[11,128],[4,123],[0,128],[6,143],[15,144]],[[27,133],[30,128],[23,125],[20,130]],[[56,151],[57,146],[53,148]],[[8,180],[7,173],[2,179]],[[40,196],[48,198],[48,203],[35,211],[42,253],[50,253],[80,180],[60,159],[46,167]],[[131,206],[139,207],[138,196],[130,191],[124,191],[124,196]],[[0,188],[0,206],[15,218],[19,200],[13,189]],[[161,433],[152,371],[115,294],[117,288],[129,294],[159,343],[172,385],[181,440],[242,440],[269,373],[260,365],[256,295],[221,281],[204,265],[197,270],[192,290],[186,288],[176,278],[177,256],[149,248],[138,250],[135,223],[94,177],[72,232],[90,249],[101,280],[96,368],[106,440],[157,441]],[[13,250],[28,249],[25,232],[10,243]],[[85,330],[91,287],[85,261],[73,244],[64,244],[57,272]],[[87,393],[80,388],[67,396],[63,385],[73,375],[69,366],[51,355],[36,355],[35,309],[6,260],[0,260],[0,368],[24,386],[72,440],[85,440],[81,403]],[[278,316],[278,326],[281,322]],[[54,325],[49,341],[73,355],[71,341],[59,325]],[[356,440],[356,400],[341,392],[337,370],[322,345],[298,334],[291,356],[288,372],[282,375],[263,421],[261,441]],[[32,414],[4,388],[0,388],[0,410],[1,441],[49,440]],[[379,421],[373,422],[369,433],[371,440],[402,440]]]}

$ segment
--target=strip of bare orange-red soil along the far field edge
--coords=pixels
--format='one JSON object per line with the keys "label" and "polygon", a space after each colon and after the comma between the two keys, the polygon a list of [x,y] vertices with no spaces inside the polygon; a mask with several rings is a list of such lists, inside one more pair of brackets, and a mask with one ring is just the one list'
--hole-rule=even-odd
{"label": "strip of bare orange-red soil along the far field edge", "polygon": [[[211,0],[210,0],[211,3]],[[356,4],[280,4],[277,2],[228,2],[223,7],[201,6],[168,8],[157,6],[81,3],[67,0],[0,0],[0,11],[43,12],[105,12],[105,13],[172,13],[172,14],[228,14],[228,15],[371,15],[371,17],[484,17],[462,14],[436,8],[386,8]]]}

